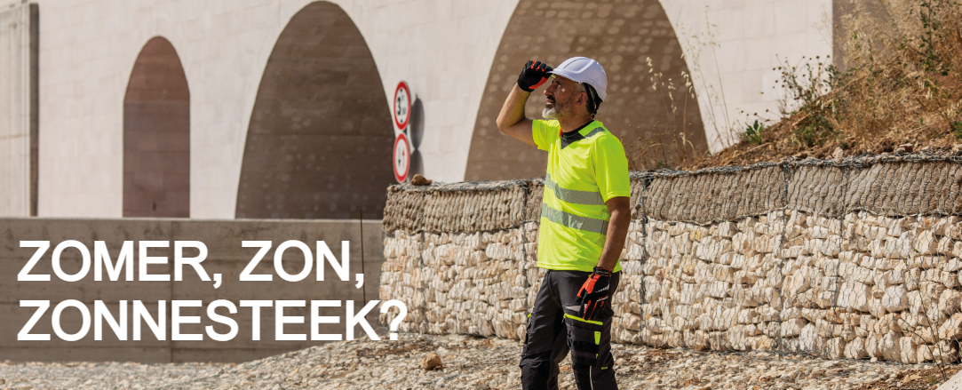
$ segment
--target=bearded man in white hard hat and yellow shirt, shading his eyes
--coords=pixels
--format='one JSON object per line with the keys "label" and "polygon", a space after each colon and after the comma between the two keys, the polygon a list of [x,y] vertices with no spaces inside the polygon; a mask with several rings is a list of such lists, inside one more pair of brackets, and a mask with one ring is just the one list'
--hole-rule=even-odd
{"label": "bearded man in white hard hat and yellow shirt, shading his eyes", "polygon": [[[549,77],[542,113],[548,120],[524,117],[531,91]],[[497,117],[502,133],[548,152],[538,237],[538,267],[548,271],[521,351],[525,390],[557,389],[558,363],[569,351],[579,390],[618,389],[610,299],[631,194],[624,147],[595,120],[607,89],[595,60],[575,57],[553,69],[529,61]]]}

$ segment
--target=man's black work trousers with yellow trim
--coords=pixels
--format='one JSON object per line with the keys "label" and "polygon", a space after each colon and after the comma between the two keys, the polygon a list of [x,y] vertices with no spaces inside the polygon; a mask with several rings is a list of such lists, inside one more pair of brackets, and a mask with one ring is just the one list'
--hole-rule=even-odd
{"label": "man's black work trousers with yellow trim", "polygon": [[[593,321],[577,317],[579,306],[574,299],[591,274],[548,271],[544,275],[535,306],[528,316],[521,351],[519,366],[524,390],[557,390],[558,363],[569,351],[578,390],[618,389],[615,357],[611,354],[611,320],[615,312],[608,304]],[[612,274],[612,295],[618,289],[620,275]]]}

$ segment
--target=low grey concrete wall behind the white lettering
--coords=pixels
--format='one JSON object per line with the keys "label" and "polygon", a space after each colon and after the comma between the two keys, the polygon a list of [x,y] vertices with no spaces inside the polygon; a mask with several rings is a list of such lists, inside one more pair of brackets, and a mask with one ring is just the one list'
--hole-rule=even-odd
{"label": "low grey concrete wall behind the white lettering", "polygon": [[[314,250],[316,241],[324,241],[335,255],[341,258],[341,242],[350,242],[350,274],[362,272],[361,222],[360,221],[196,221],[196,220],[55,220],[55,219],[0,219],[0,360],[14,361],[247,361],[282,351],[303,349],[320,344],[312,341],[273,341],[274,310],[262,309],[261,341],[251,340],[251,309],[238,307],[237,314],[228,315],[221,309],[218,313],[237,321],[240,330],[232,341],[218,342],[206,335],[204,341],[170,341],[170,300],[197,299],[203,306],[184,310],[184,315],[200,316],[201,324],[183,325],[182,333],[204,333],[206,325],[214,325],[206,315],[207,304],[215,299],[228,299],[235,304],[241,299],[377,299],[377,280],[382,262],[381,223],[364,221],[364,271],[365,286],[355,289],[354,282],[341,281],[330,267],[325,271],[325,281],[316,281],[314,273],[299,282],[281,280],[276,274],[273,281],[240,282],[239,274],[257,252],[254,247],[241,247],[241,241],[272,241],[273,247],[288,240],[298,240]],[[35,252],[35,248],[19,247],[20,241],[50,241],[51,248],[39,261],[32,274],[51,274],[52,281],[17,281],[17,274]],[[77,282],[65,282],[52,272],[51,253],[57,244],[77,240],[93,252],[94,241],[104,241],[115,259],[123,241],[201,241],[208,248],[208,257],[202,264],[209,274],[222,273],[223,282],[214,289],[213,282],[202,281],[192,269],[185,270],[183,281],[94,281],[92,269],[88,276]],[[173,275],[173,244],[166,248],[152,248],[151,256],[166,256],[166,265],[149,266],[150,273]],[[139,250],[139,249],[136,249]],[[190,254],[194,255],[195,252]],[[303,268],[303,254],[297,249],[284,254],[284,267],[288,273],[298,273]],[[76,273],[81,269],[80,252],[76,249],[63,251],[63,270]],[[273,250],[267,253],[255,273],[274,273]],[[137,273],[135,273],[136,276]],[[106,278],[106,276],[105,276]],[[173,276],[171,276],[173,279]],[[27,324],[35,312],[32,307],[20,307],[26,299],[50,300],[51,307],[40,319],[31,333],[49,333],[51,341],[17,341],[17,333]],[[156,315],[157,301],[166,300],[166,341],[157,341],[153,333],[144,327],[143,341],[133,341],[130,335],[132,320],[128,319],[128,341],[119,341],[109,326],[104,325],[103,341],[94,341],[93,327],[87,337],[75,342],[60,340],[52,330],[53,306],[66,299],[84,302],[92,313],[93,301],[103,300],[111,312],[117,314],[121,299],[142,300],[152,315]],[[131,303],[128,303],[131,304]],[[132,310],[132,308],[128,308]],[[340,316],[339,325],[320,325],[321,333],[344,333],[344,307],[323,309],[322,315]],[[376,310],[375,310],[376,312]],[[63,330],[74,333],[81,327],[80,312],[68,308],[63,311]],[[309,308],[290,308],[286,316],[310,316]],[[376,316],[369,316],[376,326]],[[215,325],[220,333],[227,332],[226,325]],[[309,325],[285,325],[286,333],[310,334]],[[357,328],[355,334],[363,334]]]}

